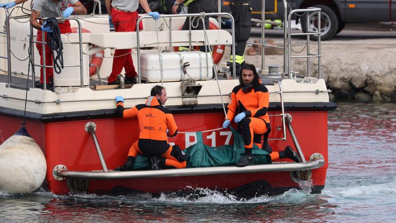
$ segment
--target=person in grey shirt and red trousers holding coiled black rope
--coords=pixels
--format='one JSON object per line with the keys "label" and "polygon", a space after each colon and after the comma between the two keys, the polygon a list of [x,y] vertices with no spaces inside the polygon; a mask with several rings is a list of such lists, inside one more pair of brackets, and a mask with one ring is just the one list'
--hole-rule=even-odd
{"label": "person in grey shirt and red trousers holding coiled black rope", "polygon": [[[69,6],[69,4],[71,6]],[[37,41],[42,42],[42,30],[44,33],[44,42],[47,41],[47,33],[52,32],[52,28],[46,25],[46,22],[38,22],[39,17],[50,18],[50,17],[69,17],[71,13],[76,14],[87,14],[87,9],[78,0],[33,0],[32,14],[30,15],[30,24],[36,28]],[[59,29],[62,34],[71,33],[70,22],[68,20],[58,20]],[[52,66],[52,51],[45,45],[45,52],[43,52],[42,44],[36,43],[36,47],[40,54],[40,64],[43,65],[43,56],[45,56],[45,65]],[[46,84],[53,85],[51,80],[53,79],[53,67],[45,67]],[[43,87],[43,67],[40,69],[40,83]]]}

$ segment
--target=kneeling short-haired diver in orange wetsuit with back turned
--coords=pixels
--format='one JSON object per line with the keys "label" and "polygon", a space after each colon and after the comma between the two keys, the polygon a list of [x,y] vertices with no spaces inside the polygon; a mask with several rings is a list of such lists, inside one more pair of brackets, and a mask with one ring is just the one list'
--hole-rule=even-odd
{"label": "kneeling short-haired diver in orange wetsuit with back turned", "polygon": [[140,128],[139,140],[133,143],[130,148],[127,162],[115,170],[132,170],[135,157],[138,154],[159,156],[158,166],[186,167],[187,155],[179,146],[171,146],[168,143],[168,136],[176,136],[177,126],[171,111],[162,106],[168,99],[166,90],[157,85],[151,89],[150,95],[145,104],[136,105],[131,109],[124,108],[122,96],[115,97],[119,116],[123,118],[137,117]]}

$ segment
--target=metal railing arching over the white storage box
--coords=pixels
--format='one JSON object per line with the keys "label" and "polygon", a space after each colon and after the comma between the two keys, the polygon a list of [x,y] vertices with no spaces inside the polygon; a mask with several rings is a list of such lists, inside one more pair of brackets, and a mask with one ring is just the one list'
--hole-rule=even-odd
{"label": "metal railing arching over the white storage box", "polygon": [[[201,14],[194,13],[194,14],[176,14],[176,15],[160,15],[160,18],[169,18],[169,44],[172,47],[172,32],[177,30],[172,30],[172,18],[173,17],[188,17],[189,18],[189,45],[191,48],[191,18],[192,17],[200,17]],[[232,27],[231,27],[231,36],[232,36],[232,55],[235,58],[235,22],[234,17],[231,16],[229,13],[205,13],[205,16],[218,16],[218,17],[226,17],[231,19]],[[141,76],[140,76],[140,36],[139,36],[139,22],[143,19],[153,19],[151,16],[142,16],[136,22],[136,39],[137,39],[137,75],[138,75],[138,83],[141,83]],[[156,28],[156,27],[155,27]],[[233,76],[234,79],[236,78],[236,65],[235,60],[232,63],[233,66]]]}

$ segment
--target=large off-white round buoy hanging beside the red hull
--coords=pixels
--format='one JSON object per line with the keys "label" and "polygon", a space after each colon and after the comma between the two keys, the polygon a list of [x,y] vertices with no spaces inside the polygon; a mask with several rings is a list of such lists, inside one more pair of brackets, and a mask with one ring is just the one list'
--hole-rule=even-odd
{"label": "large off-white round buoy hanging beside the red hull", "polygon": [[24,126],[0,145],[0,191],[34,191],[43,183],[46,171],[43,151]]}

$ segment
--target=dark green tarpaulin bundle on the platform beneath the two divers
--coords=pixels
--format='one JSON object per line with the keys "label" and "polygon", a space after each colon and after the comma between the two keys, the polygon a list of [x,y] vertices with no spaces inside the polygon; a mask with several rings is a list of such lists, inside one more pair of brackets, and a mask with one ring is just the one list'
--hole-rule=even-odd
{"label": "dark green tarpaulin bundle on the platform beneath the two divers", "polygon": [[[213,166],[234,166],[244,154],[244,144],[242,135],[231,128],[234,135],[232,145],[223,145],[212,147],[203,144],[202,133],[197,132],[197,144],[194,144],[184,150],[188,155],[187,168],[192,167],[213,167]],[[253,146],[254,164],[271,163],[269,154]],[[147,156],[137,156],[133,169],[151,169],[150,158]]]}

